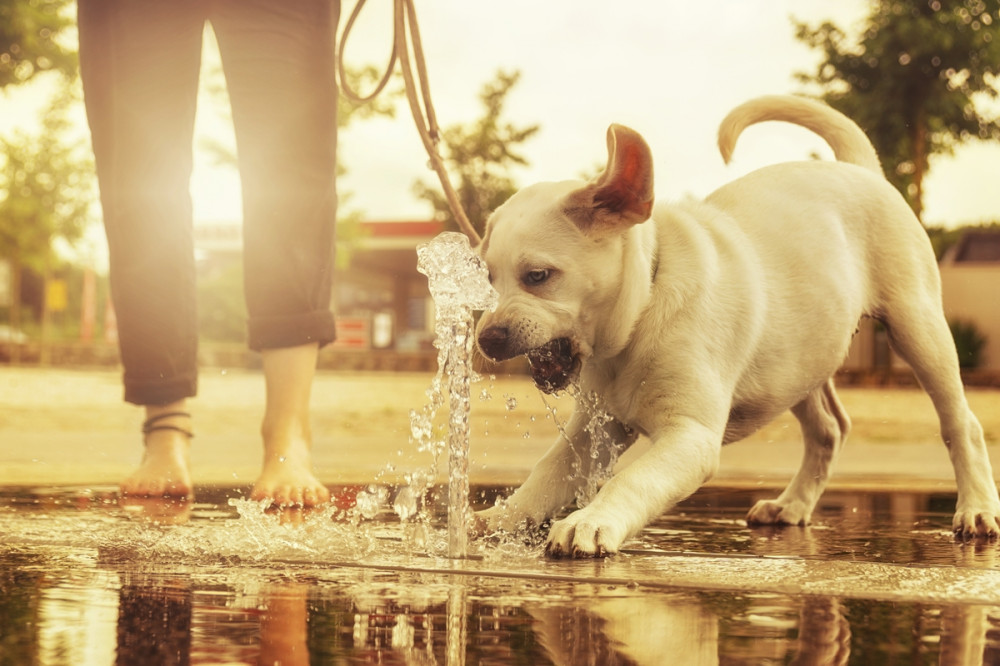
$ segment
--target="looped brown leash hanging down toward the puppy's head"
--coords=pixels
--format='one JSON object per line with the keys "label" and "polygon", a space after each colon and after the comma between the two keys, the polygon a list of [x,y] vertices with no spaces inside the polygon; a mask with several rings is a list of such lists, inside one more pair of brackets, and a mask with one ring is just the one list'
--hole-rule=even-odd
{"label": "looped brown leash hanging down toward the puppy's head", "polygon": [[[472,247],[476,247],[482,239],[476,233],[476,229],[472,226],[472,223],[469,222],[465,210],[462,209],[458,195],[455,193],[454,188],[452,188],[451,181],[448,178],[448,171],[445,169],[444,160],[441,159],[441,155],[437,151],[437,145],[441,140],[441,131],[437,124],[437,116],[434,113],[434,105],[431,103],[430,85],[427,82],[427,65],[424,61],[424,50],[420,42],[420,30],[417,27],[417,14],[413,7],[413,0],[393,0],[392,52],[389,56],[389,64],[386,66],[385,74],[382,75],[378,85],[375,86],[375,90],[363,97],[351,88],[347,82],[344,68],[344,51],[347,48],[347,38],[351,33],[351,28],[354,27],[354,21],[361,13],[365,2],[366,0],[358,0],[357,4],[354,5],[354,11],[351,12],[350,18],[347,19],[347,25],[344,26],[344,32],[340,38],[340,47],[337,52],[337,71],[340,76],[340,88],[344,95],[356,104],[370,102],[385,89],[396,68],[396,62],[399,62],[400,71],[403,74],[403,83],[406,88],[406,99],[410,104],[410,113],[413,115],[413,122],[417,126],[417,133],[420,135],[420,140],[423,141],[424,149],[430,158],[431,167],[437,173],[438,180],[441,181],[441,187],[444,190],[445,198],[448,200],[451,213],[455,216],[456,222],[458,222],[458,228],[469,237]],[[407,29],[409,29],[409,42],[407,40]],[[416,64],[417,79],[419,79],[420,84],[419,88],[413,76],[414,63],[410,61],[411,46],[413,49],[413,60]]]}

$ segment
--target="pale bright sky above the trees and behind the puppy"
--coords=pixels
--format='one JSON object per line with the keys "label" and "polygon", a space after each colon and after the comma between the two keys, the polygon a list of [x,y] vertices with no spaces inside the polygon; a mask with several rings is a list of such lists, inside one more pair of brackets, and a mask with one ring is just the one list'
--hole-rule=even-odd
{"label": "pale bright sky above the trees and behind the puppy", "polygon": [[[383,67],[391,40],[391,3],[369,2],[348,43],[350,66]],[[655,164],[659,202],[703,197],[765,164],[831,156],[809,132],[780,123],[749,129],[731,165],[715,144],[719,121],[763,94],[801,92],[796,71],[818,54],[795,40],[792,18],[857,26],[867,0],[417,0],[431,91],[443,127],[482,115],[478,94],[497,70],[520,71],[504,117],[540,131],[523,144],[530,162],[519,185],[594,173],[607,157],[611,123],[639,131]],[[347,2],[341,25],[353,2]],[[209,40],[210,43],[210,40]],[[217,55],[206,53],[211,68]],[[207,70],[206,70],[207,71]],[[32,122],[43,84],[0,94],[0,133]],[[197,133],[232,141],[231,127],[202,97]],[[82,114],[81,114],[81,124]],[[341,131],[338,183],[343,203],[367,219],[426,219],[429,205],[413,184],[436,184],[405,101],[394,119],[357,121]],[[968,144],[935,157],[926,181],[925,221],[954,226],[1000,218],[995,185],[1000,144]],[[239,179],[197,154],[192,193],[196,221],[236,222]]]}

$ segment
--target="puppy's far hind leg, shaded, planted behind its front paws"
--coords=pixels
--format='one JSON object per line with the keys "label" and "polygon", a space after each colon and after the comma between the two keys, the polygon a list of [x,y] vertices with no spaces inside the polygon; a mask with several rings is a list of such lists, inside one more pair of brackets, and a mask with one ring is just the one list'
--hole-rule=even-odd
{"label": "puppy's far hind leg, shaded, planted behind its front paws", "polygon": [[792,407],[802,427],[805,451],[792,482],[776,500],[761,500],[747,514],[750,525],[805,525],[830,478],[851,421],[828,379]]}

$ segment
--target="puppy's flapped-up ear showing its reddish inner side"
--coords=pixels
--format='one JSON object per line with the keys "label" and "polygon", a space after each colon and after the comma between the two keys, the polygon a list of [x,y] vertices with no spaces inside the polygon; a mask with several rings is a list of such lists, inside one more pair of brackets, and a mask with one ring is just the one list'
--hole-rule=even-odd
{"label": "puppy's flapped-up ear showing its reddish inner side", "polygon": [[571,193],[566,214],[584,232],[629,227],[653,210],[653,156],[635,130],[608,128],[608,165],[593,182]]}

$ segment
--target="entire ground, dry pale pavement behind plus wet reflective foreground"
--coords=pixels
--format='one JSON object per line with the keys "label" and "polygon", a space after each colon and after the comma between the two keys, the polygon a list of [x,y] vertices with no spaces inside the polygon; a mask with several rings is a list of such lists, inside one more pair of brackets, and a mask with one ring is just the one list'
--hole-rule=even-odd
{"label": "entire ground, dry pale pavement behind plus wet reflective foreground", "polygon": [[[321,374],[313,462],[336,503],[274,514],[242,499],[259,471],[258,373],[203,376],[196,500],[171,504],[118,497],[141,418],[117,371],[4,368],[0,666],[1000,663],[1000,546],[952,537],[954,476],[922,393],[841,391],[854,429],[810,527],[743,520],[798,466],[782,417],[726,447],[712,484],[619,555],[552,561],[536,538],[451,560],[440,498],[426,523],[391,509],[395,484],[429,469],[407,447],[429,380]],[[483,507],[572,405],[527,378],[474,394]],[[1000,392],[970,400],[1000,471]],[[359,490],[381,510],[352,508]]]}

